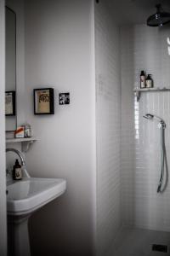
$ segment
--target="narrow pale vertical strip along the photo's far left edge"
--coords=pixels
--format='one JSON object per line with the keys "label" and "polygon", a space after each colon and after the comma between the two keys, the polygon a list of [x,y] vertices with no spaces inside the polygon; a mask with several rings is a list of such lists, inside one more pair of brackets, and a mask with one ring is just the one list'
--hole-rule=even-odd
{"label": "narrow pale vertical strip along the photo's far left edge", "polygon": [[5,9],[4,1],[0,1],[0,254],[7,253],[7,227],[6,227],[6,166],[5,166]]}

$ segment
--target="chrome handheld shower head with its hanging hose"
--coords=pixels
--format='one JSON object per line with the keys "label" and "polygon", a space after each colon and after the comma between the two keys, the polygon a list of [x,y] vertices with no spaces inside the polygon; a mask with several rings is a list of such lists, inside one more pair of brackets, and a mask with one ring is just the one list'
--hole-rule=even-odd
{"label": "chrome handheld shower head with its hanging hose", "polygon": [[165,145],[165,128],[166,123],[159,116],[151,113],[146,113],[143,116],[145,119],[156,119],[159,121],[158,128],[161,130],[161,177],[157,187],[157,193],[162,193],[167,187],[168,170],[167,170],[167,152]]}

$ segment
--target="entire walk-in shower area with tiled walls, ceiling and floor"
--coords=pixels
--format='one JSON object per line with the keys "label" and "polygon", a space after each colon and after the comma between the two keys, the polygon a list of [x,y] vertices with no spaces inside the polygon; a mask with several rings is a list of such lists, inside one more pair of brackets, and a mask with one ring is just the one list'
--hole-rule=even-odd
{"label": "entire walk-in shower area with tiled walls, ceiling and floor", "polygon": [[99,256],[170,255],[170,3],[158,2],[95,4]]}

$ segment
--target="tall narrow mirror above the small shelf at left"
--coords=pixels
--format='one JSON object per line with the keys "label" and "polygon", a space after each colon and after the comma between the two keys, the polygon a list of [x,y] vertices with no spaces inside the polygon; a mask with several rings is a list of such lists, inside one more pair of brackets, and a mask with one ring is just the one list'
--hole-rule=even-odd
{"label": "tall narrow mirror above the small shelf at left", "polygon": [[5,113],[6,131],[16,129],[15,96],[16,96],[16,14],[6,7],[6,43],[5,43]]}

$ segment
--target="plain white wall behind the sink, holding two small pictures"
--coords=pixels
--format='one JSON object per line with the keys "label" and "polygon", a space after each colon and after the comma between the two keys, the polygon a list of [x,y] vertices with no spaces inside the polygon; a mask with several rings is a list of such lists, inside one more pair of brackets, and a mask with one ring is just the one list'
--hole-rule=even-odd
{"label": "plain white wall behind the sink, holding two small pictures", "polygon": [[[93,1],[26,1],[26,119],[37,143],[33,177],[64,177],[67,191],[30,221],[33,255],[93,255],[95,80]],[[54,88],[54,115],[33,114],[34,88]],[[59,92],[71,104],[59,106]]]}

